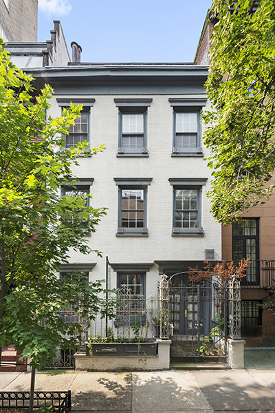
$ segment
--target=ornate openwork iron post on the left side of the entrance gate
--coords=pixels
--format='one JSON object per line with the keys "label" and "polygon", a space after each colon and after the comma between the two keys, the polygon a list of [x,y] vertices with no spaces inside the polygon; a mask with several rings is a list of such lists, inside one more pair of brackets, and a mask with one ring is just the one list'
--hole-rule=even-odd
{"label": "ornate openwork iron post on the left side of the entrance gate", "polygon": [[169,338],[169,282],[167,275],[163,274],[159,283],[159,339]]}

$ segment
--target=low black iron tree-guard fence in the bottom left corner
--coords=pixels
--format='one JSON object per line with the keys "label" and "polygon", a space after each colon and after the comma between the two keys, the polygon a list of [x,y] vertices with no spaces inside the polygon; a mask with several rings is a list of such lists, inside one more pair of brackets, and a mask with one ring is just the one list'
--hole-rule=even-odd
{"label": "low black iron tree-guard fence in the bottom left corner", "polygon": [[[41,405],[54,406],[54,413],[70,413],[72,410],[71,391],[34,392],[34,408]],[[0,407],[4,409],[28,409],[30,392],[0,392]]]}

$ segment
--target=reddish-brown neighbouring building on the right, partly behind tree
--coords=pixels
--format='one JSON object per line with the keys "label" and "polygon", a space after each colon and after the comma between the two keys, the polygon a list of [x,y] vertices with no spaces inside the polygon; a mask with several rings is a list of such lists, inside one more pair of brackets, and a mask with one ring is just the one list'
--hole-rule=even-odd
{"label": "reddish-brown neighbouring building on the right, partly behind tree", "polygon": [[[198,65],[210,64],[210,37],[216,22],[208,11],[195,54]],[[270,184],[274,182],[275,178],[272,178]],[[275,195],[265,204],[252,207],[239,224],[223,226],[221,233],[223,260],[250,258],[247,277],[241,288],[243,338],[247,346],[274,346],[275,316],[262,310],[259,304],[265,297],[274,297]]]}

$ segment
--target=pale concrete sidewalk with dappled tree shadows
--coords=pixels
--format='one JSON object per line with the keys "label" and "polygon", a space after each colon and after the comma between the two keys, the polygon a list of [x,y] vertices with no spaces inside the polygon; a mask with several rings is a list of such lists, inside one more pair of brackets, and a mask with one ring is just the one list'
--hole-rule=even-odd
{"label": "pale concrete sidewalk with dappled tree shadows", "polygon": [[[275,412],[275,370],[38,372],[36,391],[72,391],[73,412]],[[0,373],[0,391],[30,389],[30,373]]]}

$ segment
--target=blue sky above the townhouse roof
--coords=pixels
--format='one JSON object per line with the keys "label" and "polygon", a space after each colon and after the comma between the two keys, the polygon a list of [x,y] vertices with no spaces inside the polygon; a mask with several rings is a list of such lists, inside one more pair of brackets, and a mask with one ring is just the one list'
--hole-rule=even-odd
{"label": "blue sky above the townhouse roof", "polygon": [[192,62],[212,0],[39,0],[38,41],[60,20],[82,62]]}

